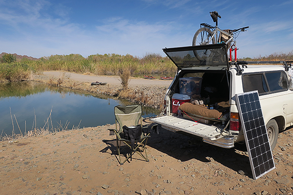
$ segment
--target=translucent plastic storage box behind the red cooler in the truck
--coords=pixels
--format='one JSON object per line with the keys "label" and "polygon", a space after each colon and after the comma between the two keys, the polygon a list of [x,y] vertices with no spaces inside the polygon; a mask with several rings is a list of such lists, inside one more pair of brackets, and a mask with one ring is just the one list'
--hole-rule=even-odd
{"label": "translucent plastic storage box behind the red cooler in the truck", "polygon": [[201,77],[179,78],[180,94],[200,95],[202,79]]}

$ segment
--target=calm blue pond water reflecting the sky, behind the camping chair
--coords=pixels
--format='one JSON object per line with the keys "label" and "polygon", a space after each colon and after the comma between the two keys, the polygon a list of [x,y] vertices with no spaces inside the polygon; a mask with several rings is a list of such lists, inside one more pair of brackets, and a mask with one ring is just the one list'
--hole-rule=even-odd
{"label": "calm blue pond water reflecting the sky, behind the camping chair", "polygon": [[[0,133],[5,136],[11,135],[13,129],[19,134],[34,128],[52,129],[52,126],[72,129],[114,124],[114,107],[128,104],[125,100],[38,82],[0,83]],[[158,114],[156,109],[143,107],[143,117]]]}

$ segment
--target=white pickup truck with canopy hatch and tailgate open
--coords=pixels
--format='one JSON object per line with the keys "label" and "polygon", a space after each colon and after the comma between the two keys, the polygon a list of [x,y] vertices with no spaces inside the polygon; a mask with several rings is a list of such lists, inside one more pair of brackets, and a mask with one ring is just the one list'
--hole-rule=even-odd
{"label": "white pickup truck with canopy hatch and tailgate open", "polygon": [[279,131],[293,125],[292,71],[288,66],[291,62],[280,65],[229,62],[226,44],[163,51],[178,67],[167,89],[164,115],[151,119],[163,128],[232,148],[235,142],[244,141],[235,94],[255,90],[272,149]]}

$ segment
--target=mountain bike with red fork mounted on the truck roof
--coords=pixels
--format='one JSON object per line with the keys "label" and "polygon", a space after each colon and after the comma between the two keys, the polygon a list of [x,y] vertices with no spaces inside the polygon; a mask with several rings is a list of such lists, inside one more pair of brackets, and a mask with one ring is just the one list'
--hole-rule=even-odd
{"label": "mountain bike with red fork mounted on the truck roof", "polygon": [[[234,30],[222,30],[218,27],[218,18],[221,18],[218,12],[213,11],[209,13],[213,21],[216,22],[216,25],[211,26],[207,23],[201,23],[200,29],[196,31],[192,39],[192,46],[225,43],[226,45],[228,45],[230,52],[229,60],[232,61],[232,52],[234,51],[234,59],[236,61],[238,50],[236,47],[236,38],[239,36],[240,32],[247,31],[245,29],[249,28],[249,26]],[[207,55],[205,52],[203,52],[203,54]],[[195,56],[199,60],[203,59],[199,54],[195,54]]]}

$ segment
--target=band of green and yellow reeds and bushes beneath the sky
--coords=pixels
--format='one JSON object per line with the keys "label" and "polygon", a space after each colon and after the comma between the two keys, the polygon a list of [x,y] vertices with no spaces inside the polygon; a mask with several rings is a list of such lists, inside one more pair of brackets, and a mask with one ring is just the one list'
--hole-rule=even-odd
{"label": "band of green and yellow reeds and bushes beneath the sky", "polygon": [[[247,61],[293,60],[293,51],[289,53],[273,53],[257,58],[242,58]],[[168,76],[173,77],[176,66],[167,57],[160,54],[146,54],[143,58],[129,54],[96,54],[84,58],[80,54],[51,55],[32,60],[17,60],[12,54],[5,54],[0,63],[1,81],[29,80],[32,75],[41,71],[61,70],[95,75],[121,76],[126,70],[132,77]]]}

